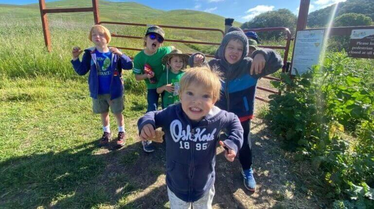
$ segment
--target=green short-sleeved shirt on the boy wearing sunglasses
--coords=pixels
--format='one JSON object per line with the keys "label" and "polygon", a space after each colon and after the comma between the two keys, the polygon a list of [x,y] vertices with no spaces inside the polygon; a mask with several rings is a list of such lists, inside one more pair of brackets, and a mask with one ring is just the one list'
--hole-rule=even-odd
{"label": "green short-sleeved shirt on the boy wearing sunglasses", "polygon": [[147,85],[147,89],[154,89],[157,88],[157,83],[160,81],[161,74],[165,71],[165,66],[162,64],[161,59],[165,54],[168,54],[172,51],[171,47],[160,47],[157,49],[152,55],[147,55],[144,53],[144,50],[139,52],[134,57],[134,68],[132,72],[136,75],[144,74],[144,65],[148,64],[151,66],[153,72],[155,73],[156,77],[156,84],[149,83],[149,79],[145,79],[145,84]]}

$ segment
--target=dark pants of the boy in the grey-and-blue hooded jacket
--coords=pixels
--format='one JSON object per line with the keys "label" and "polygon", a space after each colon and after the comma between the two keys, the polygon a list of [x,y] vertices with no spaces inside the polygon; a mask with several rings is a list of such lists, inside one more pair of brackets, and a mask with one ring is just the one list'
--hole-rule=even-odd
{"label": "dark pants of the boy in the grey-and-blue hooded jacket", "polygon": [[239,150],[239,161],[243,170],[247,170],[252,166],[252,145],[250,143],[250,120],[241,122],[243,133],[243,146]]}

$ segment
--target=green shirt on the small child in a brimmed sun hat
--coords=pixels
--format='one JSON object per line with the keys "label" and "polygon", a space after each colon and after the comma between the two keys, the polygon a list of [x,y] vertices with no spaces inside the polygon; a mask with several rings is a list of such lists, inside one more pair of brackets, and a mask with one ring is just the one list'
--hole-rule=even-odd
{"label": "green shirt on the small child in a brimmed sun hat", "polygon": [[179,90],[179,81],[184,71],[179,70],[177,74],[173,73],[171,70],[168,70],[168,76],[166,78],[167,72],[162,73],[160,77],[160,81],[157,84],[157,87],[162,87],[166,84],[173,84],[174,92],[169,93],[167,91],[163,91],[162,94],[162,105],[163,108],[166,108],[170,104],[177,104],[179,102],[178,90]]}

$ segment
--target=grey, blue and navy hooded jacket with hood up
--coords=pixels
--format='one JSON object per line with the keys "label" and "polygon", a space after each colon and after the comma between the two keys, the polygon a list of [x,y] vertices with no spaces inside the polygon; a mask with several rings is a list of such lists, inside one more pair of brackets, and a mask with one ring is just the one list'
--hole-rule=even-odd
{"label": "grey, blue and navy hooded jacket with hood up", "polygon": [[[242,56],[234,64],[228,63],[224,57],[226,45],[231,39],[239,39],[244,43]],[[249,69],[253,60],[250,57],[246,57],[248,39],[241,31],[227,33],[222,39],[217,52],[218,59],[211,59],[208,63],[205,62],[212,70],[217,70],[222,74],[221,98],[215,105],[221,109],[235,113],[241,122],[252,119],[257,80],[282,68],[282,58],[278,53],[270,49],[254,51],[251,57],[261,53],[265,56],[266,63],[265,68],[260,74],[251,75]],[[193,60],[196,54],[202,53],[198,52],[191,55],[189,59],[191,67],[194,65]]]}

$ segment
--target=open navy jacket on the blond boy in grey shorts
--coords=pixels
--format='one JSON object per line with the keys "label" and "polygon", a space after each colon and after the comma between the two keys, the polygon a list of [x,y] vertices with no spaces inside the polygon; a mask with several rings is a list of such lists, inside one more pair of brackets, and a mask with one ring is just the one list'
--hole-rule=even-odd
{"label": "open navy jacket on the blond boy in grey shorts", "polygon": [[[89,71],[89,94],[90,97],[97,99],[99,91],[99,77],[97,75],[98,71],[95,51],[95,47],[85,49],[82,57],[82,62],[79,59],[76,59],[71,60],[71,64],[73,65],[75,72],[79,75],[85,75]],[[121,73],[122,69],[132,69],[132,61],[125,54],[122,54],[122,56],[117,56],[117,54],[115,53],[112,53],[110,61],[112,70],[112,78],[110,82],[110,99],[112,100],[124,95]]]}

